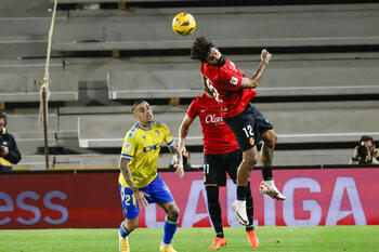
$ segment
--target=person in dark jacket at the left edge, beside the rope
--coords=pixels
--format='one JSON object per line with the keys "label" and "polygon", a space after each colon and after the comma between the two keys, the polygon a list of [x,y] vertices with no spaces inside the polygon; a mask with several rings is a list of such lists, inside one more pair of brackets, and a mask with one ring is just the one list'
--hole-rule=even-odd
{"label": "person in dark jacket at the left edge, beside the rope", "polygon": [[11,171],[12,163],[21,160],[16,141],[5,129],[6,120],[5,114],[0,111],[0,171]]}

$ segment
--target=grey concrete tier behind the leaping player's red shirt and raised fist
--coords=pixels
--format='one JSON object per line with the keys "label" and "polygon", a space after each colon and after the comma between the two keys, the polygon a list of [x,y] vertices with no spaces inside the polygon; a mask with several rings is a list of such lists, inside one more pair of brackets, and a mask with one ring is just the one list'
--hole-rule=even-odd
{"label": "grey concrete tier behind the leaping player's red shirt and raised fist", "polygon": [[[379,54],[361,59],[355,59],[356,56],[329,54],[329,58],[315,58],[314,55],[296,58],[274,55],[259,88],[259,95],[379,93]],[[231,55],[230,58],[251,76],[259,55]],[[131,69],[127,64],[123,70],[110,69],[107,78],[109,98],[194,97],[202,92],[197,62],[179,62],[179,58],[172,57],[158,61],[165,64],[156,65],[152,59],[146,64],[148,67],[142,69]]]}

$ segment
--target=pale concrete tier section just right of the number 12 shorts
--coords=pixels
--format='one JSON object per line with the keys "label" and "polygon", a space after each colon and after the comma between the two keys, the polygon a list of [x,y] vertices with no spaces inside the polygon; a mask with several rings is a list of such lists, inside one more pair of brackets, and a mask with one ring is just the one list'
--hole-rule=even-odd
{"label": "pale concrete tier section just right of the number 12 shorts", "polygon": [[277,143],[357,142],[379,135],[377,101],[257,104],[275,127]]}

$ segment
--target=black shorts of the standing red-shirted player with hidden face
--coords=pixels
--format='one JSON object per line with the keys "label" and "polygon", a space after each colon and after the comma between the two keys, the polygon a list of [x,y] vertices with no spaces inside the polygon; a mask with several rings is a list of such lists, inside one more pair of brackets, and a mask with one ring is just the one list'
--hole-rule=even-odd
{"label": "black shorts of the standing red-shirted player with hidden face", "polygon": [[240,149],[226,154],[204,155],[204,184],[226,185],[226,173],[235,181],[237,180],[237,170],[243,161],[243,151]]}

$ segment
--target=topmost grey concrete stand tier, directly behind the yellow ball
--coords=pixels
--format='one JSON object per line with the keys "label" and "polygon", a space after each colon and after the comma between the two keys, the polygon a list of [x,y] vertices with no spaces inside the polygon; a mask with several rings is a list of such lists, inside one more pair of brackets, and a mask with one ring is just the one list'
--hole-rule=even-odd
{"label": "topmost grey concrete stand tier, directly behind the yellow ball", "polygon": [[[187,11],[200,24],[196,35],[211,30],[211,38],[220,48],[286,48],[378,44],[378,4],[326,4]],[[70,11],[69,18],[56,23],[53,50],[187,50],[193,38],[179,37],[171,30],[172,16],[180,11],[179,8]]]}

